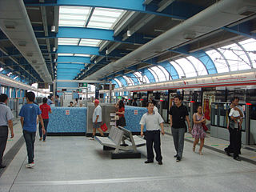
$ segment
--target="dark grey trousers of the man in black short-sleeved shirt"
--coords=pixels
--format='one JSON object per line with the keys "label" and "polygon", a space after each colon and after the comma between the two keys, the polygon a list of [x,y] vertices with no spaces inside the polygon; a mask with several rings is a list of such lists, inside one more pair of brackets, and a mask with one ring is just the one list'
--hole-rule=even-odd
{"label": "dark grey trousers of the man in black short-sleeved shirt", "polygon": [[184,134],[185,128],[171,128],[171,133],[174,138],[175,150],[178,154],[178,157],[182,158],[183,148],[184,148]]}

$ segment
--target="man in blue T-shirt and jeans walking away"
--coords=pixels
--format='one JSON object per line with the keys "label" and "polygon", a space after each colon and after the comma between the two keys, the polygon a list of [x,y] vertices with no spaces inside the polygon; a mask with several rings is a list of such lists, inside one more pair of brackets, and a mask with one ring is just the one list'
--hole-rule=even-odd
{"label": "man in blue T-shirt and jeans walking away", "polygon": [[21,123],[23,129],[23,136],[26,142],[26,151],[28,156],[28,164],[26,168],[34,167],[34,138],[37,131],[37,117],[42,125],[42,133],[46,134],[45,127],[42,122],[41,110],[39,106],[34,104],[35,95],[33,92],[26,94],[27,103],[22,106],[19,116],[21,116]]}

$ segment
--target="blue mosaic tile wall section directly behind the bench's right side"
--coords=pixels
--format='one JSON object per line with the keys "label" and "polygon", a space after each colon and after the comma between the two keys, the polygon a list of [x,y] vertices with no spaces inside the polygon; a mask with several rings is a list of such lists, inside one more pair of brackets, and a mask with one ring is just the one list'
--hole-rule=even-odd
{"label": "blue mosaic tile wall section directly behind the bench's right side", "polygon": [[[141,121],[142,115],[147,112],[146,107],[138,106],[125,106],[125,118],[126,118],[126,129],[132,132],[141,132],[141,126],[139,122]],[[134,110],[138,110],[138,114],[134,114]],[[146,127],[144,127],[146,131]]]}

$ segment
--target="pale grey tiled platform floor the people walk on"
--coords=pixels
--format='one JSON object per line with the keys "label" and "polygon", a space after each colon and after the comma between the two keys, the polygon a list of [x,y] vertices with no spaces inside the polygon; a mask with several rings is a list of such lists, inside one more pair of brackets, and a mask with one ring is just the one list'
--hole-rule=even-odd
{"label": "pale grey tiled platform floor the people walk on", "polygon": [[[7,142],[6,154],[22,140],[19,123],[14,131],[16,140]],[[39,142],[37,136],[34,168],[25,167],[26,145],[22,142],[14,159],[0,173],[0,191],[255,191],[253,163],[234,161],[207,147],[222,150],[226,141],[206,138],[203,155],[199,155],[192,151],[191,138],[186,134],[182,161],[176,162],[169,131],[166,126],[167,134],[161,136],[162,166],[144,163],[146,146],[138,148],[140,159],[111,159],[110,151],[103,151],[97,141],[84,136],[47,137],[46,142]],[[256,156],[253,150],[250,153]],[[242,149],[243,158],[246,154]]]}

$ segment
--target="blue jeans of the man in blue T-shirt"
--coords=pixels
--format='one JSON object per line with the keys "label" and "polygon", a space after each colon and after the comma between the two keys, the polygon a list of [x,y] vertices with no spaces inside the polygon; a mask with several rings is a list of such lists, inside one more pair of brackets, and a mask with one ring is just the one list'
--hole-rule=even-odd
{"label": "blue jeans of the man in blue T-shirt", "polygon": [[35,138],[35,132],[30,132],[27,130],[23,130],[23,136],[25,138],[26,142],[26,152],[28,156],[28,162],[32,163],[34,162],[34,138]]}

